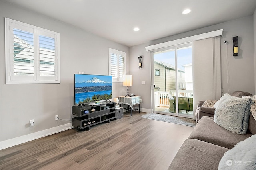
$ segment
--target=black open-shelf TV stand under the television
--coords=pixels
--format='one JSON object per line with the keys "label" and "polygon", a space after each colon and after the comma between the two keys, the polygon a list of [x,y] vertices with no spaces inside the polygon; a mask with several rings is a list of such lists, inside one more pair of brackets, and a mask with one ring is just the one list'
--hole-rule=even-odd
{"label": "black open-shelf TV stand under the television", "polygon": [[115,102],[108,101],[98,105],[72,106],[72,114],[76,116],[72,118],[72,126],[79,130],[90,130],[93,125],[110,122],[110,120],[116,119],[115,108]]}

